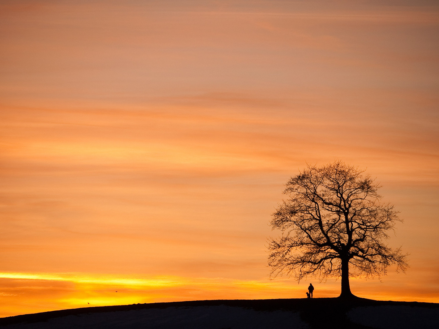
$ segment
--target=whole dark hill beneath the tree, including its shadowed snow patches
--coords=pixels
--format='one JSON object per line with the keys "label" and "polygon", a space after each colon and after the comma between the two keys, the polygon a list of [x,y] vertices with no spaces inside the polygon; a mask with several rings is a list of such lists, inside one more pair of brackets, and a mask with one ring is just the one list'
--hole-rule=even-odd
{"label": "whole dark hill beneath the tree, including its shadowed snow patches", "polygon": [[197,300],[102,306],[1,318],[1,328],[438,328],[439,304],[354,297]]}

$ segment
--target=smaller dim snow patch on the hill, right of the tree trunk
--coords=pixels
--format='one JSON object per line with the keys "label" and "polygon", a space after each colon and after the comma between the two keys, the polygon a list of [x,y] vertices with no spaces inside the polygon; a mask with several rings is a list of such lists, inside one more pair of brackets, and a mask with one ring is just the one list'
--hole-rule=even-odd
{"label": "smaller dim snow patch on the hill, right of the tree trunk", "polygon": [[439,328],[439,308],[367,306],[347,313],[350,321],[379,329]]}

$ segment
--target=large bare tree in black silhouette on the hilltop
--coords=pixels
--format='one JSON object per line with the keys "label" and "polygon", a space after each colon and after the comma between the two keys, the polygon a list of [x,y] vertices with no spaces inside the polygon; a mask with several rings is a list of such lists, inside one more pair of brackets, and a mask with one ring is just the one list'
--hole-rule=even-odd
{"label": "large bare tree in black silhouette on the hilltop", "polygon": [[[308,165],[291,177],[288,200],[273,213],[272,229],[282,236],[269,240],[270,278],[294,275],[300,282],[310,275],[320,281],[342,278],[340,297],[352,297],[349,277],[374,277],[407,269],[407,254],[385,241],[395,229],[398,211],[381,203],[381,187],[364,170],[335,161],[317,168]],[[349,272],[349,268],[351,272]]]}

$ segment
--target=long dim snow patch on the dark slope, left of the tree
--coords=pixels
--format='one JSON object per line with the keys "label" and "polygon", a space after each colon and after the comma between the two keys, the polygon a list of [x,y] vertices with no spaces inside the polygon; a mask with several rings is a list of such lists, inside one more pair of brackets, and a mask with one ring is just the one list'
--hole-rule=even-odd
{"label": "long dim snow patch on the dark slope, left of the tree", "polygon": [[52,318],[48,322],[8,325],[8,329],[305,329],[299,313],[255,311],[230,306],[149,308]]}

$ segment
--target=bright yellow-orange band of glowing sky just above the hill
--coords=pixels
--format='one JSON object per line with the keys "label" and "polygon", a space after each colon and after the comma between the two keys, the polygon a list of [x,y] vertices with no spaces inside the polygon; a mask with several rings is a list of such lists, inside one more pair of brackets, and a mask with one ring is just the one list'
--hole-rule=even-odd
{"label": "bright yellow-orange band of glowing sky just above the hill", "polygon": [[[102,275],[96,273],[0,273],[0,282],[10,286],[0,294],[5,304],[0,316],[11,316],[57,309],[124,304],[143,304],[184,300],[305,298],[307,283],[292,279],[242,280],[140,275]],[[27,282],[23,285],[23,280]],[[353,279],[352,283],[355,284]],[[4,281],[7,283],[8,281]],[[314,283],[314,282],[313,282]],[[314,283],[319,297],[337,297],[339,280]],[[380,291],[377,282],[362,283],[353,291],[357,296],[378,300],[410,301],[413,292]],[[358,290],[358,287],[360,290]],[[24,289],[24,290],[23,290]],[[25,299],[23,299],[23,296]],[[434,294],[418,296],[417,301],[438,302]],[[28,310],[28,311],[27,311]]]}

